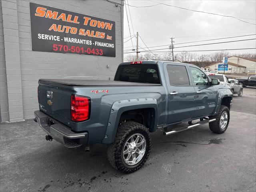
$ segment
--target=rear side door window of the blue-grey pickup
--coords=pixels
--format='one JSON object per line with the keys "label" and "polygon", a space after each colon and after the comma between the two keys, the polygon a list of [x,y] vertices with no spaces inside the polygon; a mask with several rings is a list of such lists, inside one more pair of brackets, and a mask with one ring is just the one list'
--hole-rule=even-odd
{"label": "rear side door window of the blue-grey pickup", "polygon": [[167,72],[170,80],[170,85],[188,86],[189,78],[185,66],[167,65]]}

